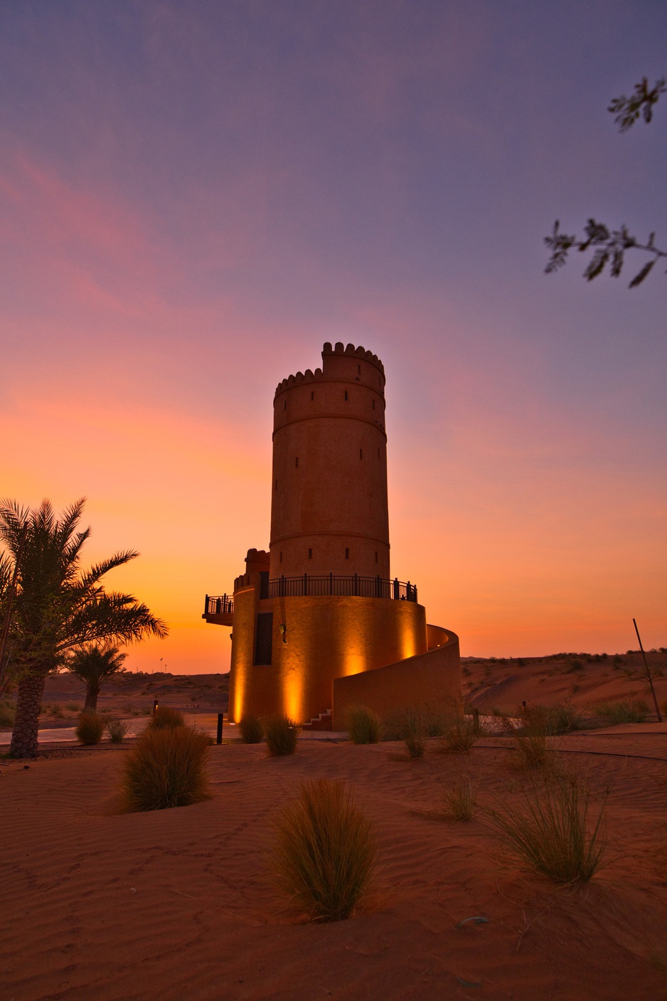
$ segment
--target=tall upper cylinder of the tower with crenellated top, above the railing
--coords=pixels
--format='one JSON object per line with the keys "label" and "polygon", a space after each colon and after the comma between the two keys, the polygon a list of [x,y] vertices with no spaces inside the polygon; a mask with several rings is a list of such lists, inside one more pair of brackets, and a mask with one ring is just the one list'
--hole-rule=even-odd
{"label": "tall upper cylinder of the tower with crenellated top, above the railing", "polygon": [[271,578],[390,577],[384,384],[377,355],[339,342],[278,385]]}

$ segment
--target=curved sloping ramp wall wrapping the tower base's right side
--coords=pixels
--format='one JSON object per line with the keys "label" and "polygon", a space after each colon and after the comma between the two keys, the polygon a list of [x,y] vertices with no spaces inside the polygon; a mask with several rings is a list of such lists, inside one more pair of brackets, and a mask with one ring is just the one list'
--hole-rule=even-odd
{"label": "curved sloping ramp wall wrapping the tower base's right side", "polygon": [[[437,627],[433,627],[436,629]],[[439,634],[444,630],[438,629]],[[442,639],[440,636],[439,640]],[[381,716],[403,706],[437,706],[461,698],[459,638],[448,633],[440,647],[333,683],[333,729],[345,729],[348,706],[368,706]]]}

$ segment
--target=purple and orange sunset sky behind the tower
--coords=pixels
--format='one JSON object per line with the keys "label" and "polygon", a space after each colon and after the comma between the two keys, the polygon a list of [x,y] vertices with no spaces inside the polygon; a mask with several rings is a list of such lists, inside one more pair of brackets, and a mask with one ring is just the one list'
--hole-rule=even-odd
{"label": "purple and orange sunset sky behind the tower", "polygon": [[325,340],[384,362],[392,575],[464,656],[667,645],[664,265],[543,273],[556,218],[667,248],[667,96],[606,111],[666,40],[664,0],[0,4],[0,496],[140,551],[132,670],[228,669],[204,594]]}

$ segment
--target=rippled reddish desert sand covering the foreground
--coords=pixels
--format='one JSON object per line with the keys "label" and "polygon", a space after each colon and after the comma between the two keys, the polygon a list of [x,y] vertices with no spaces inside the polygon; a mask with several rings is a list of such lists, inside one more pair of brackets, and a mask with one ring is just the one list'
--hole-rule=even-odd
{"label": "rippled reddish desert sand covering the foreground", "polygon": [[[558,739],[594,805],[610,790],[607,865],[577,890],[522,871],[482,813],[434,815],[461,771],[482,806],[519,802],[500,738],[414,762],[397,744],[214,746],[210,800],[134,815],[116,812],[122,747],[2,761],[0,998],[667,998],[666,730]],[[364,912],[329,925],[290,910],[267,859],[313,777],[347,780],[379,841]]]}

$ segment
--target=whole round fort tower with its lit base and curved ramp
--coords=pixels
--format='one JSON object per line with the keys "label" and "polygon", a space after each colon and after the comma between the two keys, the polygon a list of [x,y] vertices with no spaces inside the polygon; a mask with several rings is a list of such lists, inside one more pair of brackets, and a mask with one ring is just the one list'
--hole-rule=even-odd
{"label": "whole round fort tower with its lit base and curved ramp", "polygon": [[384,389],[377,355],[342,343],[276,388],[269,551],[249,550],[233,597],[207,595],[203,616],[232,627],[230,720],[330,728],[354,702],[460,694],[458,638],[390,576]]}

